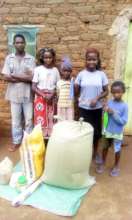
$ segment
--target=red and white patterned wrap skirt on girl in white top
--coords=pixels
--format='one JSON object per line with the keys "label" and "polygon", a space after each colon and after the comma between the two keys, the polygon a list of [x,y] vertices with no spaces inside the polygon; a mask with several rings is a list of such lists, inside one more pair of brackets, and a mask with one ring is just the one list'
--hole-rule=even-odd
{"label": "red and white patterned wrap skirt on girl in white top", "polygon": [[[50,92],[45,92],[45,95]],[[35,97],[34,100],[34,124],[41,123],[44,138],[49,138],[54,124],[54,114],[56,113],[56,99],[54,98],[51,104],[48,104],[41,96]]]}

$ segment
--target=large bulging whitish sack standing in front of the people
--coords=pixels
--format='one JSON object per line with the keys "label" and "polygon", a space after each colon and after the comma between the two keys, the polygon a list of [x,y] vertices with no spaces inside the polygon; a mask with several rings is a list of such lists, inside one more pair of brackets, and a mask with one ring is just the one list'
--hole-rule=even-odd
{"label": "large bulging whitish sack standing in front of the people", "polygon": [[93,127],[86,122],[62,121],[49,139],[44,182],[65,188],[83,188],[95,183],[89,176]]}

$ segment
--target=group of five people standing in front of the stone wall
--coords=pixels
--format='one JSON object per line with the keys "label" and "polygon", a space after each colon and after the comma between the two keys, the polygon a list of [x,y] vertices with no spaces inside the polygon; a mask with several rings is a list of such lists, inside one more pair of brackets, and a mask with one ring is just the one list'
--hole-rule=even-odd
{"label": "group of five people standing in front of the stone wall", "polygon": [[[94,128],[93,158],[98,164],[96,171],[103,173],[107,153],[114,145],[115,162],[112,176],[119,175],[119,160],[123,140],[123,128],[128,120],[128,107],[123,101],[125,85],[115,81],[111,85],[101,68],[97,49],[89,48],[85,54],[84,69],[72,76],[72,62],[64,57],[57,68],[56,53],[52,48],[42,48],[36,59],[26,53],[25,37],[16,34],[13,39],[15,53],[9,54],[4,62],[2,74],[8,82],[6,99],[11,104],[13,144],[9,151],[21,145],[23,129],[31,132],[41,123],[44,138],[48,139],[57,120],[74,120],[75,100],[79,115]],[[102,115],[108,114],[108,124],[102,135]],[[99,140],[103,139],[102,157],[98,155]]]}

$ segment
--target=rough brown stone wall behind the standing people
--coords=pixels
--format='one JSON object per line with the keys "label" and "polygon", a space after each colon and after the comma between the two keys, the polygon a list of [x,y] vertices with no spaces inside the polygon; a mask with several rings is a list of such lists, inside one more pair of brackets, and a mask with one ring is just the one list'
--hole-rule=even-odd
{"label": "rough brown stone wall behind the standing people", "polygon": [[[89,46],[99,49],[103,68],[113,78],[113,37],[108,30],[131,0],[0,0],[0,68],[7,54],[4,25],[41,25],[37,48],[56,49],[57,60],[70,55],[74,74],[84,66]],[[9,135],[10,109],[4,100],[6,84],[0,80],[0,134]]]}

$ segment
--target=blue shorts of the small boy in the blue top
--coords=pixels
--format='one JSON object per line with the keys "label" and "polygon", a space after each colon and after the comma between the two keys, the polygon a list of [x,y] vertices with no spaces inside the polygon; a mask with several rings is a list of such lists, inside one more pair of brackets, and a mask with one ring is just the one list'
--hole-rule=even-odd
{"label": "blue shorts of the small boy in the blue top", "polygon": [[103,149],[109,148],[113,145],[115,153],[121,151],[121,144],[122,144],[122,140],[117,140],[114,138],[105,138],[105,137],[102,138]]}

